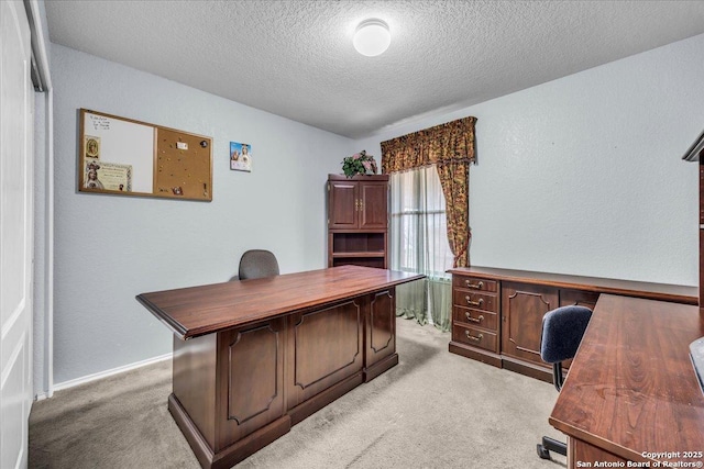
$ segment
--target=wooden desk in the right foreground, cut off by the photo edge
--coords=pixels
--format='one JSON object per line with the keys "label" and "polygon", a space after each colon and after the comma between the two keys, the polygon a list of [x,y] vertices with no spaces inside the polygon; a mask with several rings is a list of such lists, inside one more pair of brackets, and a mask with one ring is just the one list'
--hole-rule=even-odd
{"label": "wooden desk in the right foreground, cut off by the photo edge", "polygon": [[568,435],[568,467],[701,467],[704,394],[688,355],[701,336],[697,306],[602,294],[549,420]]}

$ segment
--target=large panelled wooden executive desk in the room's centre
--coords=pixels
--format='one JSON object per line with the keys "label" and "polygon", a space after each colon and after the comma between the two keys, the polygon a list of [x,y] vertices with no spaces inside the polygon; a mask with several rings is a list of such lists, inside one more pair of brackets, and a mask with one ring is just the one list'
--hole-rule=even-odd
{"label": "large panelled wooden executive desk in the room's centre", "polygon": [[396,284],[359,266],[136,299],[174,332],[168,409],[204,468],[229,468],[398,364]]}

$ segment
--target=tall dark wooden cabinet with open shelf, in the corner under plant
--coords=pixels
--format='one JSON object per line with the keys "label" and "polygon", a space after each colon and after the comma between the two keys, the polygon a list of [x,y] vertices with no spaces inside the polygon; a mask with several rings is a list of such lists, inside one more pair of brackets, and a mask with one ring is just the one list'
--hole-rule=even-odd
{"label": "tall dark wooden cabinet with open shelf, in the corner under plant", "polygon": [[328,267],[388,268],[388,176],[328,176]]}

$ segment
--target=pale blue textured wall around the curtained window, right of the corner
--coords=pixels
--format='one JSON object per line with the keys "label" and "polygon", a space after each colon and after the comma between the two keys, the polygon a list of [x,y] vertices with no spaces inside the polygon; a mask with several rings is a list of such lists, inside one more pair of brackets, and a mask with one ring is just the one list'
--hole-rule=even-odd
{"label": "pale blue textured wall around the curtained window, right of the corner", "polygon": [[[697,167],[704,35],[356,142],[466,115],[471,263],[697,284]],[[471,83],[468,83],[471,86]]]}

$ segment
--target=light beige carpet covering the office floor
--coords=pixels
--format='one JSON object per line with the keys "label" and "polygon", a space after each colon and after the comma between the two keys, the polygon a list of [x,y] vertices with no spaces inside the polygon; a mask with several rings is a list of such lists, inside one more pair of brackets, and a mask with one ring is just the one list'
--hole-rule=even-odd
{"label": "light beige carpet covering the office floor", "polygon": [[[448,351],[449,334],[397,320],[400,361],[238,468],[553,468],[550,383]],[[166,399],[170,361],[56,392],[30,415],[31,468],[199,468]]]}

